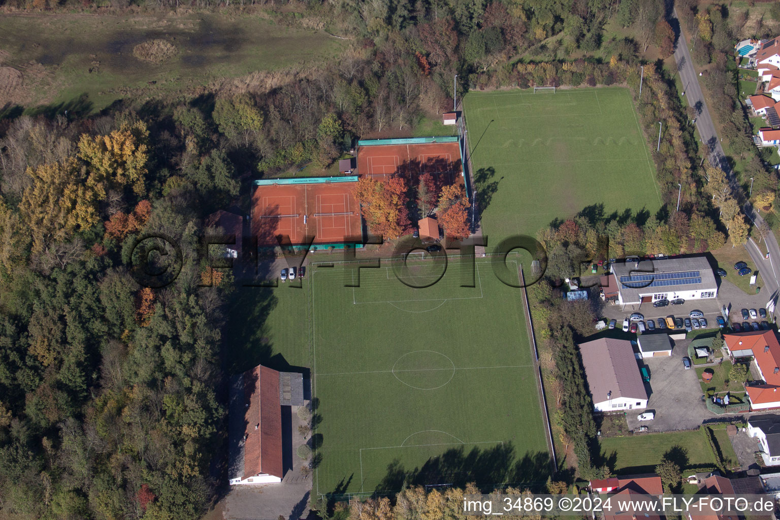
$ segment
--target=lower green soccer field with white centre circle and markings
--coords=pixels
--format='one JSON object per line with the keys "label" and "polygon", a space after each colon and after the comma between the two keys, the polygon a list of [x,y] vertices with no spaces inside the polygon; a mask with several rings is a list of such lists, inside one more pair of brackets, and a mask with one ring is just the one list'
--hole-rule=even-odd
{"label": "lower green soccer field with white centre circle and markings", "polygon": [[[547,478],[522,293],[496,278],[498,260],[480,260],[473,278],[451,260],[427,288],[402,284],[387,264],[360,269],[355,288],[345,287],[355,268],[314,267],[315,493]],[[517,260],[508,265],[516,277]],[[437,278],[407,275],[413,285]]]}

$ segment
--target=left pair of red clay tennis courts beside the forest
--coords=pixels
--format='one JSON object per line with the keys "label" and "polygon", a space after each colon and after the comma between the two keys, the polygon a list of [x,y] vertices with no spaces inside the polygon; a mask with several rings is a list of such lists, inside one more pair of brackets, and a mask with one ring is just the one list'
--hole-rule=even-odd
{"label": "left pair of red clay tennis courts beside the forest", "polygon": [[[360,208],[352,196],[355,182],[321,182],[257,186],[252,196],[252,234],[259,246],[277,245],[277,235],[301,244],[342,243],[360,237]],[[305,179],[296,179],[300,182]]]}

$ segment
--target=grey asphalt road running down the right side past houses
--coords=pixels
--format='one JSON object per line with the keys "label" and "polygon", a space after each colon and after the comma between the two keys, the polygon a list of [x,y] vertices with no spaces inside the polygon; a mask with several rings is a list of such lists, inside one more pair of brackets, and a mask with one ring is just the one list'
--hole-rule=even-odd
{"label": "grey asphalt road running down the right side past houses", "polygon": [[[672,16],[676,19],[677,12],[672,10]],[[707,109],[707,100],[704,98],[704,93],[701,91],[699,79],[697,77],[696,70],[693,69],[693,62],[690,58],[690,47],[686,42],[685,36],[682,32],[679,34],[677,40],[677,46],[675,48],[675,62],[677,62],[677,70],[679,71],[680,80],[683,82],[683,88],[685,89],[685,95],[688,98],[688,104],[692,106],[696,111],[696,128],[699,131],[702,143],[707,145],[707,160],[710,164],[717,165],[721,168],[726,175],[728,175],[729,182],[732,187],[732,193],[736,200],[740,200],[743,204],[743,210],[747,218],[753,221],[755,225],[761,225],[764,219],[758,214],[756,210],[753,210],[753,206],[747,202],[745,193],[737,183],[734,172],[732,172],[729,161],[726,161],[726,156],[723,153],[723,147],[721,141],[718,138],[718,133],[715,132],[715,126],[710,116],[710,111]],[[750,258],[756,264],[756,267],[761,271],[761,278],[764,279],[764,288],[762,292],[767,292],[767,300],[774,296],[777,301],[778,287],[780,287],[780,265],[775,267],[775,262],[780,263],[780,246],[775,239],[775,235],[770,233],[767,236],[765,242],[761,242],[761,245],[757,245],[756,242],[750,240],[746,243],[745,248],[750,254]],[[769,259],[764,258],[764,253],[769,252]]]}

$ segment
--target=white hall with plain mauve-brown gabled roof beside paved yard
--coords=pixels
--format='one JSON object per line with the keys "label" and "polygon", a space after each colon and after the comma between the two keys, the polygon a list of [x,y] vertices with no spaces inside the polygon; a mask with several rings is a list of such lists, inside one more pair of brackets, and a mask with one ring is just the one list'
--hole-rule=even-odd
{"label": "white hall with plain mauve-brown gabled roof beside paved yard", "polygon": [[630,341],[587,341],[580,344],[580,356],[597,412],[647,408],[647,392]]}

